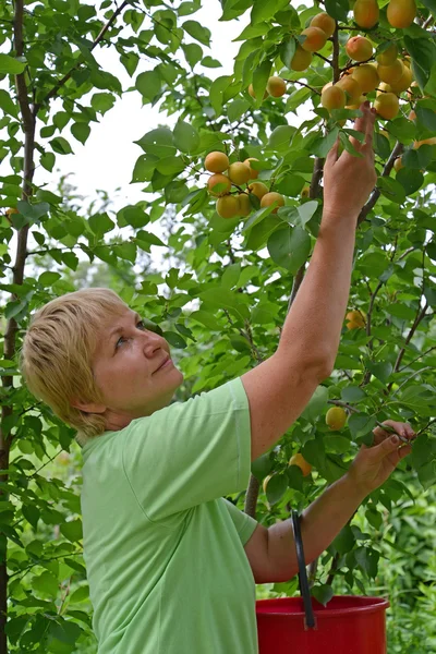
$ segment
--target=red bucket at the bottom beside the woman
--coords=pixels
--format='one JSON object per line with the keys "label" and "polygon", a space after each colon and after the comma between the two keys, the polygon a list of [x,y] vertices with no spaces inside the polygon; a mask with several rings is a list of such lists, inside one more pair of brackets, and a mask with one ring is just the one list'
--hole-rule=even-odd
{"label": "red bucket at the bottom beside the woman", "polygon": [[386,654],[387,600],[338,595],[312,605],[316,628],[306,630],[301,597],[259,600],[259,654]]}

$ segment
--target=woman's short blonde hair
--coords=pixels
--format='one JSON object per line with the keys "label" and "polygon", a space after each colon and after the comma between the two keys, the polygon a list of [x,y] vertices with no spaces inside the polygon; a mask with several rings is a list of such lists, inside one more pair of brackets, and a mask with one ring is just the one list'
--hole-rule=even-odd
{"label": "woman's short blonde hair", "polygon": [[106,429],[105,417],[72,402],[101,401],[93,374],[93,355],[101,323],[128,305],[110,289],[83,289],[52,300],[31,320],[21,351],[21,370],[29,391],[63,422],[77,429],[82,445]]}

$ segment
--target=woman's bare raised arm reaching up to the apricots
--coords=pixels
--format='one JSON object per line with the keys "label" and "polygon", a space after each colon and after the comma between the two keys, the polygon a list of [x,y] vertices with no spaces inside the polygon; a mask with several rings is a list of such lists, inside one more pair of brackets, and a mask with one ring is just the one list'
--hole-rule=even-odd
{"label": "woman's bare raised arm reaching up to the apricots", "polygon": [[356,221],[376,182],[375,113],[365,102],[354,147],[338,144],[324,168],[324,213],[304,281],[283,325],[277,351],[242,376],[250,403],[252,460],[268,450],[299,417],[317,385],[332,371],[350,290]]}

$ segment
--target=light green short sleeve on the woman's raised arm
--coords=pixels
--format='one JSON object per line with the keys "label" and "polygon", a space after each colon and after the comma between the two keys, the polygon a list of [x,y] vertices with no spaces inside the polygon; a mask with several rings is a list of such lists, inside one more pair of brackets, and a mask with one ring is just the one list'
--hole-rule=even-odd
{"label": "light green short sleeve on the woman's raised arm", "polygon": [[243,491],[251,431],[241,379],[133,421],[122,447],[125,475],[150,520]]}

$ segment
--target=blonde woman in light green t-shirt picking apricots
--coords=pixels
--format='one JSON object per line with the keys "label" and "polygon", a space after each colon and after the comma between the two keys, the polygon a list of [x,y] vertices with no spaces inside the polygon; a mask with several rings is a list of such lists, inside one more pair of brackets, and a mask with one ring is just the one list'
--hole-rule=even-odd
{"label": "blonde woman in light green t-shirt picking apricots", "polygon": [[[254,654],[255,582],[296,573],[289,521],[269,529],[222,499],[331,373],[360,209],[375,183],[367,104],[363,155],[329,154],[324,214],[277,351],[254,370],[169,404],[182,375],[168,343],[114,293],[88,289],[34,317],[22,367],[29,389],[83,445],[84,554],[100,654]],[[316,319],[314,308],[316,307]],[[409,425],[390,422],[403,437]],[[375,431],[348,473],[304,513],[318,556],[410,446]]]}

